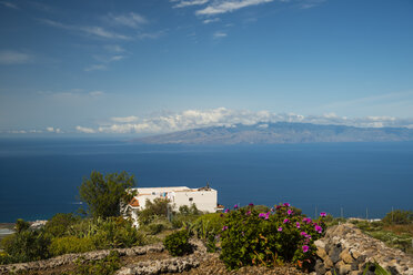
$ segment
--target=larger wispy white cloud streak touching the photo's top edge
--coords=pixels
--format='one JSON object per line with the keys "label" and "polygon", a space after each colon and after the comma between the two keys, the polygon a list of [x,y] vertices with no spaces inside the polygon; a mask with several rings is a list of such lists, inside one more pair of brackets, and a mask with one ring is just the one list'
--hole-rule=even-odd
{"label": "larger wispy white cloud streak touching the photo's top edge", "polygon": [[273,0],[219,0],[212,2],[204,9],[198,10],[198,16],[214,16],[220,13],[232,12],[245,7],[269,3]]}

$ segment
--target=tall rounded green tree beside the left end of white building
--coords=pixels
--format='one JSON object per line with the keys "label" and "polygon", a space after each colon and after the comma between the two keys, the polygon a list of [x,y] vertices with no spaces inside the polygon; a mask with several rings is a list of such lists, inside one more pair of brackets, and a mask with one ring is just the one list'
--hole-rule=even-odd
{"label": "tall rounded green tree beside the left end of white building", "polygon": [[79,196],[88,205],[92,217],[119,216],[121,204],[133,197],[130,189],[134,186],[134,176],[127,172],[105,174],[93,171],[90,179],[83,177]]}

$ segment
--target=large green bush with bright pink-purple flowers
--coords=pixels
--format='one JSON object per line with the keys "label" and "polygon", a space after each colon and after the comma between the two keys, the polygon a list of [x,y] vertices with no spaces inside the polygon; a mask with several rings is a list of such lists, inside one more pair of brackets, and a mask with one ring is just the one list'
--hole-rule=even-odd
{"label": "large green bush with bright pink-purple flowers", "polygon": [[223,215],[221,259],[229,269],[283,262],[308,268],[316,251],[314,241],[324,234],[324,215],[312,221],[288,203],[266,213],[259,213],[252,204],[236,205]]}

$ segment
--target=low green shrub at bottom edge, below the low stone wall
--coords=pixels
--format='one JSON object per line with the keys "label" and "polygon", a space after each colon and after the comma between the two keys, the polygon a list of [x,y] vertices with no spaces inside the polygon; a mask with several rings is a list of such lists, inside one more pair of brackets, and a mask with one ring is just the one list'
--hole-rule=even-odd
{"label": "low green shrub at bottom edge, below the low stone wall", "polygon": [[75,265],[75,271],[67,273],[68,275],[112,275],[121,267],[119,253],[114,251],[110,252],[110,254],[102,259],[91,262],[80,259],[77,261]]}

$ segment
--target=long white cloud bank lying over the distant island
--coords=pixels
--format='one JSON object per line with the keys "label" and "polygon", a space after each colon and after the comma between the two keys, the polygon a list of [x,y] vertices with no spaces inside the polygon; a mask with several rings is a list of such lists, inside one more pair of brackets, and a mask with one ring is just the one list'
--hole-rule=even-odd
{"label": "long white cloud bank lying over the distant island", "polygon": [[228,126],[236,124],[266,128],[269,123],[301,122],[314,124],[334,124],[361,128],[411,126],[413,119],[401,120],[391,116],[366,116],[349,119],[333,113],[323,115],[300,115],[294,113],[253,112],[225,108],[210,110],[187,110],[180,113],[141,119],[138,116],[111,118],[111,123],[99,126],[104,133],[168,133],[206,126]]}

